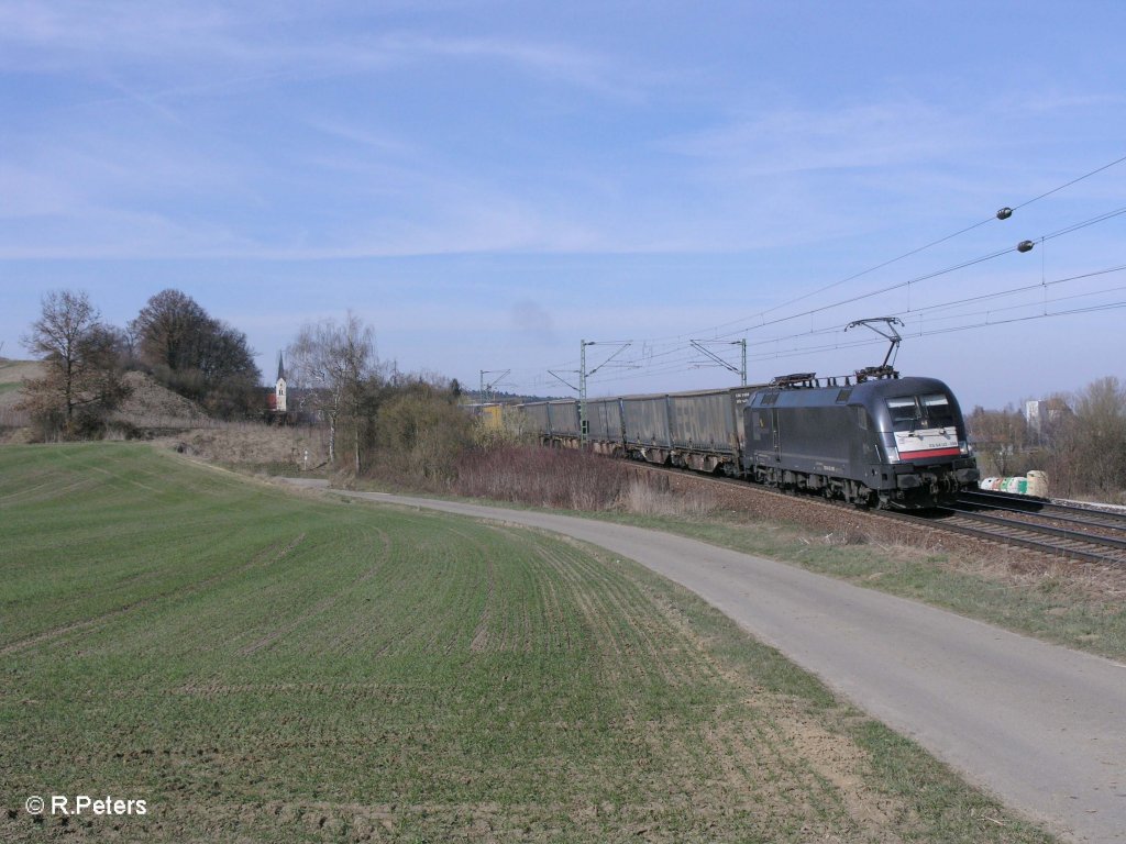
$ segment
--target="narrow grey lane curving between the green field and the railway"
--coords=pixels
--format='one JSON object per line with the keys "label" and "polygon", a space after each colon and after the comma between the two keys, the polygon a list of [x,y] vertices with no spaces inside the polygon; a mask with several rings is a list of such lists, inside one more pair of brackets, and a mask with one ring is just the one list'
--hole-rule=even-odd
{"label": "narrow grey lane curving between the green field and the railway", "polygon": [[346,494],[540,528],[642,563],[1026,816],[1072,841],[1126,842],[1126,665],[668,533]]}

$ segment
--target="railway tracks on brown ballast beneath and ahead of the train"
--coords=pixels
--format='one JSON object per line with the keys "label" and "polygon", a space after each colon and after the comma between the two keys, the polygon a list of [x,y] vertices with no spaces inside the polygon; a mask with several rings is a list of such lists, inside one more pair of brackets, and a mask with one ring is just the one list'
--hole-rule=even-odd
{"label": "railway tracks on brown ballast beneath and ahead of the train", "polygon": [[[795,496],[748,484],[733,478],[718,478],[651,464],[638,467],[672,475],[688,475],[715,484],[730,484],[794,501]],[[801,496],[811,504],[844,508],[843,502],[824,501],[813,495]],[[866,515],[923,524],[933,530],[945,530],[990,542],[1026,548],[1052,557],[1126,566],[1126,514],[1089,510],[1026,496],[1003,493],[964,493],[955,506],[937,508],[919,513],[899,511],[867,511]]]}

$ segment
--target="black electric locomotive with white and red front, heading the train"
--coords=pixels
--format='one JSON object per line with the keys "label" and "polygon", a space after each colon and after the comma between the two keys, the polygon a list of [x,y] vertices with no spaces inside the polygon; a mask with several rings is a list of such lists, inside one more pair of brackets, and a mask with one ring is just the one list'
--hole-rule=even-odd
{"label": "black electric locomotive with white and red front, heading the train", "polygon": [[742,468],[758,483],[908,509],[978,478],[958,402],[935,378],[821,386],[787,376],[752,393],[743,414]]}

